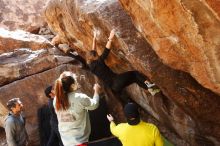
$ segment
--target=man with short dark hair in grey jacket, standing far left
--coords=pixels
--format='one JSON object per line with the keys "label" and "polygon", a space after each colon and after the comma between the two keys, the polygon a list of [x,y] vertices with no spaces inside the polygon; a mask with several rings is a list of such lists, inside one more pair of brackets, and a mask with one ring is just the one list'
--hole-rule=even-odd
{"label": "man with short dark hair in grey jacket, standing far left", "polygon": [[8,146],[26,146],[28,135],[25,128],[25,118],[22,116],[23,104],[19,98],[7,102],[10,110],[5,119],[5,133]]}

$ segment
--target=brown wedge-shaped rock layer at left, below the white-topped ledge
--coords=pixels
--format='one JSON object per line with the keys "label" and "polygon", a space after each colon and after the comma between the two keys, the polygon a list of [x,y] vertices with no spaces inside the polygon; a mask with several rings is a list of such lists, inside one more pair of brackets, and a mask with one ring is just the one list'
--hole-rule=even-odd
{"label": "brown wedge-shaped rock layer at left, below the white-topped ledge", "polygon": [[[57,51],[58,52],[58,51]],[[56,53],[55,48],[32,51],[18,49],[0,55],[0,86],[72,61]]]}

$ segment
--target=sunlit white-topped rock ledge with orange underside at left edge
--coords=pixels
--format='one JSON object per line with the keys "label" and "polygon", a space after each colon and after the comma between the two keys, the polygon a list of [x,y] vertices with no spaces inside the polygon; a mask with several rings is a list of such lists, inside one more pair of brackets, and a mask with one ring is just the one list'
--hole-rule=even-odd
{"label": "sunlit white-topped rock ledge with orange underside at left edge", "polygon": [[21,30],[8,31],[0,28],[0,53],[11,52],[17,48],[38,50],[51,47],[50,42],[42,36]]}

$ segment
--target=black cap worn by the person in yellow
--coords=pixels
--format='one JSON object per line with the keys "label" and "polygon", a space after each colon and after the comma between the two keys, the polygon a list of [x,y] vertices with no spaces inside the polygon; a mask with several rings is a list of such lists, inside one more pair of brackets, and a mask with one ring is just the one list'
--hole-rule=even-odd
{"label": "black cap worn by the person in yellow", "polygon": [[135,103],[128,103],[124,107],[125,117],[129,125],[137,125],[140,122],[138,107]]}

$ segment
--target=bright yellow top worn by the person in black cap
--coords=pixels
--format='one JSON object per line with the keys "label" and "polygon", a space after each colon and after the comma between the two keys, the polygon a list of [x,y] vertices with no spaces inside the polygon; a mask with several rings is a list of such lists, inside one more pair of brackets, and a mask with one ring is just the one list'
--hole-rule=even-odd
{"label": "bright yellow top worn by the person in black cap", "polygon": [[162,146],[157,127],[143,121],[138,125],[119,124],[112,134],[120,139],[123,146]]}

